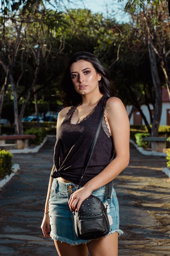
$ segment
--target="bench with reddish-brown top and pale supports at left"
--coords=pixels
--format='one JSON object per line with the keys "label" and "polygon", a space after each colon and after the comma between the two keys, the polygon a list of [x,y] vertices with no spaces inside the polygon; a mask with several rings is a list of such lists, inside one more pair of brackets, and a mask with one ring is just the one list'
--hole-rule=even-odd
{"label": "bench with reddish-brown top and pale supports at left", "polygon": [[[0,135],[0,149],[28,148],[29,139],[35,139],[36,135]],[[6,140],[14,140],[15,144],[7,144]]]}

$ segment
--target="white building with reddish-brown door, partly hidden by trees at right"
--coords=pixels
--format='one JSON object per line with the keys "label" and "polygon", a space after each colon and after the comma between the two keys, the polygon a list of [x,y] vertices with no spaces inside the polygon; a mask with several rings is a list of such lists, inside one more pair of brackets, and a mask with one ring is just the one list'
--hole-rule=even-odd
{"label": "white building with reddish-brown door, partly hidden by trees at right", "polygon": [[[160,125],[170,125],[170,100],[168,97],[168,91],[167,88],[163,88],[162,90],[162,115],[160,119]],[[126,106],[126,111],[128,114],[130,113],[132,109],[131,105]],[[148,107],[146,105],[142,105],[141,109],[143,111],[143,114],[146,116],[148,123],[151,124],[150,115],[148,111]],[[153,106],[150,105],[150,109],[152,111],[152,115],[154,113]],[[134,110],[133,114],[130,118],[130,125],[145,125],[145,122],[143,121],[140,112],[138,110]]]}

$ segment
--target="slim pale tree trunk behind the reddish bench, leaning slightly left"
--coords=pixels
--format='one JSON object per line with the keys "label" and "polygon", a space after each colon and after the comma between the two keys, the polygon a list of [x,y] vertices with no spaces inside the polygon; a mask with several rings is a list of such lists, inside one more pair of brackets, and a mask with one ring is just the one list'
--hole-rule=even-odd
{"label": "slim pale tree trunk behind the reddish bench, leaning slightly left", "polygon": [[13,91],[14,96],[14,127],[15,127],[15,134],[19,134],[19,123],[18,123],[18,101],[17,101],[17,92],[14,85],[13,76],[10,74],[10,82],[11,88]]}

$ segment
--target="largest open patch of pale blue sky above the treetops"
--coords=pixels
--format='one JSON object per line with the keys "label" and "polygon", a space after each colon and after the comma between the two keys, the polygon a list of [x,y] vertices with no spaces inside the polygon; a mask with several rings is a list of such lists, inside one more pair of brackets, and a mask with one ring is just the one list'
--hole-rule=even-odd
{"label": "largest open patch of pale blue sky above the treetops", "polygon": [[[74,1],[73,1],[74,2]],[[123,11],[126,1],[119,2],[118,0],[78,0],[76,4],[69,4],[69,7],[78,9],[90,9],[92,13],[102,13],[104,16],[114,15],[118,22],[128,22],[129,16]]]}

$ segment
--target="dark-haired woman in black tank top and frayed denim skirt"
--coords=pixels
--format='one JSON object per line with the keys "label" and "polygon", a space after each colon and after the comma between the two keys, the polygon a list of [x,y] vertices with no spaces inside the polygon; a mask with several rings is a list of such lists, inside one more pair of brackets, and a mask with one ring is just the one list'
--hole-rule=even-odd
{"label": "dark-haired woman in black tank top and frayed denim skirt", "polygon": [[[123,233],[119,229],[118,201],[114,188],[111,199],[106,199],[106,184],[129,164],[129,119],[121,100],[111,97],[111,88],[107,72],[93,54],[79,52],[72,56],[63,80],[66,103],[72,106],[58,114],[54,165],[41,225],[44,236],[54,239],[60,256],[87,256],[87,248],[90,256],[118,254],[118,234]],[[82,187],[76,190],[106,98],[99,138]],[[81,240],[73,229],[72,211],[78,211],[91,194],[108,204],[112,230],[100,239]]]}

